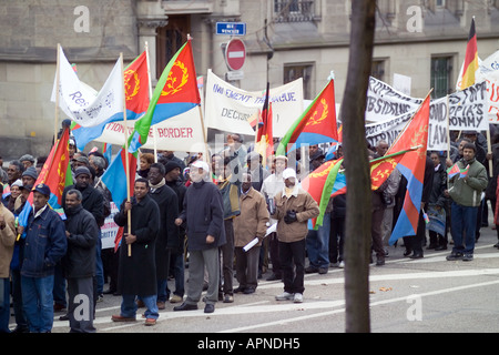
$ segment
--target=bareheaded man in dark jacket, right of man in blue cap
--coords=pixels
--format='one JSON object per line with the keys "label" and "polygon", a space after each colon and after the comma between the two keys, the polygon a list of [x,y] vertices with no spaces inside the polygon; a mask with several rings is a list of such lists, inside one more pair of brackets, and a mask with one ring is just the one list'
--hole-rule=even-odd
{"label": "bareheaded man in dark jacket, right of man in blue cap", "polygon": [[95,333],[93,327],[93,287],[95,275],[95,245],[99,226],[93,215],[83,209],[78,190],[65,194],[65,235],[68,252],[62,258],[62,270],[68,280],[68,317],[72,333]]}

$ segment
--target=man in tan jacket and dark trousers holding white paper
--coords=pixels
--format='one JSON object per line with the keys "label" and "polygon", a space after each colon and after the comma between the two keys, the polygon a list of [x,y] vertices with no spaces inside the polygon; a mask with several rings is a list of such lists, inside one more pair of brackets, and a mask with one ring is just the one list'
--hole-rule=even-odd
{"label": "man in tan jacket and dark trousers holding white paper", "polygon": [[[240,209],[241,214],[234,219],[234,252],[240,286],[234,292],[251,294],[257,286],[259,248],[265,237],[269,215],[265,199],[253,189],[252,175],[248,173],[243,174]],[[255,237],[258,242],[248,251],[244,251],[243,247]]]}

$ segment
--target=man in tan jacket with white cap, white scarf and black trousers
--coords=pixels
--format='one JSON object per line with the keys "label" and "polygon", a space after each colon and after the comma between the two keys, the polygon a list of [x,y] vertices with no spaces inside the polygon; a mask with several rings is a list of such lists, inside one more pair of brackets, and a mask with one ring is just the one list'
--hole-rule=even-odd
{"label": "man in tan jacket with white cap, white scarf and black trousers", "polygon": [[298,187],[293,169],[286,169],[283,179],[285,186],[275,196],[276,211],[272,215],[277,220],[279,260],[284,276],[284,293],[275,298],[301,303],[305,291],[305,237],[308,233],[308,220],[319,214],[319,207],[308,192]]}

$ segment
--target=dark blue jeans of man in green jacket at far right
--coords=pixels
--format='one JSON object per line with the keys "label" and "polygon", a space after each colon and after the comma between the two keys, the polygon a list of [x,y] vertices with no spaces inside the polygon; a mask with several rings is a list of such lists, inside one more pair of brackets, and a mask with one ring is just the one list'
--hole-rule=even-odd
{"label": "dark blue jeans of man in green jacket at far right", "polygon": [[[464,254],[473,253],[478,209],[452,202],[450,206],[450,233],[454,240],[452,252]],[[464,233],[466,233],[465,236]]]}

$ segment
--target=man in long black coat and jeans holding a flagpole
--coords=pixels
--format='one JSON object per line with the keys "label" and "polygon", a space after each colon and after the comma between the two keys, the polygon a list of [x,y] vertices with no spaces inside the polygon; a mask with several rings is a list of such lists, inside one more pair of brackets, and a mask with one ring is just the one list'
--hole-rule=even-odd
{"label": "man in long black coat and jeans holding a flagpole", "polygon": [[[156,305],[155,239],[160,230],[160,209],[149,196],[149,181],[135,180],[132,201],[124,201],[114,222],[124,227],[120,247],[118,291],[122,294],[121,313],[113,322],[135,321],[138,305],[135,296],[144,303],[145,325],[156,324],[160,316]],[[131,212],[131,221],[128,214]],[[129,233],[129,223],[131,232]],[[130,247],[130,253],[129,253]]]}

